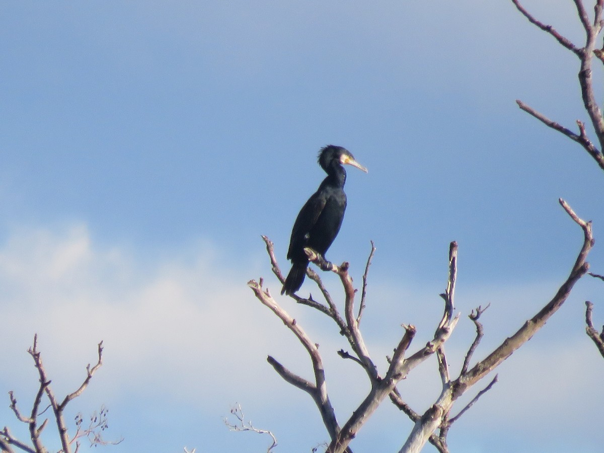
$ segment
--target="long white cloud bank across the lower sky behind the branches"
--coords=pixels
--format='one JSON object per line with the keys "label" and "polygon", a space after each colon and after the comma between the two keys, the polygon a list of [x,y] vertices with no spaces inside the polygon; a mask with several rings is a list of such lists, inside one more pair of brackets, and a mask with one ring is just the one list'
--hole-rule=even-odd
{"label": "long white cloud bank across the lower sky behind the branches", "polygon": [[[249,270],[225,268],[217,264],[218,252],[203,244],[186,253],[162,256],[157,262],[140,262],[123,247],[97,245],[82,224],[56,230],[25,229],[11,235],[0,246],[0,284],[5,289],[0,294],[5,320],[0,341],[5,345],[4,362],[11,364],[0,376],[0,390],[4,393],[14,388],[18,394],[29,395],[35,387],[35,371],[25,352],[34,332],[39,333],[39,347],[57,394],[79,384],[85,365],[95,360],[97,342],[103,339],[104,365],[89,390],[101,401],[117,400],[121,411],[127,411],[133,399],[145,400],[153,411],[162,411],[165,407],[161,405],[169,400],[182,408],[182,413],[199,408],[213,413],[216,426],[211,429],[215,431],[220,429],[219,417],[239,401],[255,420],[268,420],[269,428],[280,431],[281,439],[286,437],[286,430],[291,431],[287,420],[310,411],[308,417],[316,431],[310,438],[317,443],[324,440],[326,435],[309,397],[282,382],[265,361],[266,355],[274,355],[292,371],[312,379],[303,348],[245,286],[254,274],[262,273],[277,294],[268,264],[262,271],[246,263],[241,267]],[[502,335],[512,333],[502,326],[519,327],[525,312],[532,313],[539,303],[545,303],[554,291],[549,286],[510,285],[498,291],[479,288],[465,292],[460,288],[460,304],[467,308],[493,301],[493,307],[484,314],[485,345],[477,358],[500,342]],[[439,300],[412,285],[403,291],[405,294],[375,283],[370,291],[371,303],[363,321],[365,339],[374,359],[384,365],[384,356],[402,335],[395,327],[411,321],[422,329],[410,349],[416,350],[426,332],[432,332],[427,315],[422,313],[431,307],[428,312],[440,315],[440,308],[430,302],[438,306]],[[406,301],[403,306],[401,299]],[[536,305],[523,308],[527,303]],[[348,348],[330,326],[317,321],[327,320],[324,315],[316,318],[307,307],[295,306],[289,300],[283,304],[321,344],[328,388],[343,422],[364,396],[367,380],[352,361],[336,356],[336,350]],[[578,310],[576,305],[569,306],[570,312]],[[464,310],[467,312],[466,307]],[[397,312],[400,319],[393,318],[392,313]],[[576,420],[551,414],[561,406],[596,414],[601,402],[598,377],[604,371],[604,361],[582,331],[572,332],[567,326],[564,316],[554,316],[544,330],[556,330],[565,339],[556,341],[540,332],[498,370],[500,383],[452,432],[470,432],[476,426],[483,426],[484,432],[492,435],[498,435],[499,426],[519,437],[530,435],[523,434],[523,426],[536,432],[579,432]],[[473,325],[462,320],[447,344],[453,370],[458,369],[473,335]],[[399,387],[416,411],[425,410],[439,393],[434,361],[430,359],[414,370]],[[470,391],[468,397],[477,390]],[[297,414],[288,413],[293,407],[298,408]],[[0,418],[4,414],[10,416],[5,410]],[[384,426],[393,433],[388,443],[398,445],[403,435],[400,430],[407,429],[405,418],[387,408],[376,417],[379,423],[371,422],[364,428],[366,436],[359,435],[359,445],[363,439],[374,439]],[[488,426],[484,420],[489,420]],[[123,434],[130,438],[145,435]],[[228,436],[226,431],[224,434]],[[473,437],[457,437],[460,434],[455,434],[463,439],[459,445],[470,445],[467,439]]]}

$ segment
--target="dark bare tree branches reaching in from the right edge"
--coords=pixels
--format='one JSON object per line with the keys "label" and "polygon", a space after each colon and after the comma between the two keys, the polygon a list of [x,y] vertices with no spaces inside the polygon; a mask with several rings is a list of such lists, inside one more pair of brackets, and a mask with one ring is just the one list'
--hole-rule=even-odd
{"label": "dark bare tree branches reaching in from the right edge", "polygon": [[[603,18],[603,10],[604,10],[604,0],[596,0],[594,4],[594,14],[593,17],[590,17],[587,10],[585,9],[585,5],[583,4],[583,0],[573,0],[575,7],[577,9],[577,14],[579,14],[579,19],[583,30],[585,31],[585,44],[583,46],[576,45],[571,42],[570,39],[565,37],[559,31],[557,31],[552,25],[544,24],[533,16],[533,14],[529,13],[524,6],[521,5],[519,0],[512,0],[512,3],[516,6],[518,11],[524,15],[528,21],[535,25],[536,27],[541,28],[541,30],[545,31],[545,33],[550,34],[557,42],[562,45],[565,49],[571,51],[573,54],[577,56],[579,59],[579,86],[581,89],[581,95],[583,99],[583,106],[585,108],[585,112],[590,118],[590,123],[593,126],[594,133],[596,134],[597,141],[599,146],[596,146],[593,141],[587,135],[585,129],[585,122],[581,120],[577,120],[578,133],[573,132],[567,127],[562,126],[556,121],[550,120],[550,118],[546,117],[544,114],[536,111],[535,109],[527,106],[527,104],[523,103],[520,100],[516,100],[518,106],[527,112],[533,117],[537,118],[542,123],[551,127],[552,129],[561,132],[566,135],[571,140],[579,143],[585,150],[590,154],[590,156],[597,162],[601,169],[604,170],[604,154],[602,150],[604,149],[604,118],[602,118],[602,109],[600,109],[599,104],[596,101],[596,96],[594,94],[593,88],[593,71],[592,71],[592,63],[594,61],[593,57],[595,56],[600,63],[604,63],[604,42],[602,42],[602,37],[600,36],[602,33],[602,28],[604,27],[604,18]],[[600,40],[600,44],[602,47],[599,47],[597,43]],[[600,82],[600,85],[602,82]],[[602,275],[591,274],[593,277],[601,278],[604,280]],[[592,312],[593,312],[593,303],[590,301],[585,302],[585,330],[587,335],[594,342],[596,347],[598,348],[600,354],[604,356],[604,327],[602,332],[598,332],[592,322]]]}

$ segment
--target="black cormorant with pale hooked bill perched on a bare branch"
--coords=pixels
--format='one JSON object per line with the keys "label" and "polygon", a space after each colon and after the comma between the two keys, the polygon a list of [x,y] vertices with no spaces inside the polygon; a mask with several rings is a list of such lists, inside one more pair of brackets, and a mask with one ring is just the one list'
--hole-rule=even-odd
{"label": "black cormorant with pale hooked bill perched on a bare branch", "polygon": [[302,286],[308,266],[304,247],[310,247],[324,257],[338,234],[346,209],[346,170],[342,165],[353,165],[367,173],[367,169],[355,161],[352,153],[341,146],[321,148],[318,161],[327,178],[304,204],[294,223],[288,251],[292,269],[285,279],[281,294],[294,294]]}

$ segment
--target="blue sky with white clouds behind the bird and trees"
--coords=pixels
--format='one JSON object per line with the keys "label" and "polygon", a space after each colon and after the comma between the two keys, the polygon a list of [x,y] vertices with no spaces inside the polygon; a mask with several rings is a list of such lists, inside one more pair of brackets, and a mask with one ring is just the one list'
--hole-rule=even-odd
{"label": "blue sky with white clouds behind the bird and trees", "polygon": [[[524,5],[582,42],[573,2]],[[567,277],[583,236],[559,198],[593,220],[589,261],[604,274],[602,170],[515,103],[574,130],[587,120],[578,60],[510,1],[24,1],[0,11],[0,426],[23,439],[7,393],[31,408],[27,349],[38,333],[59,395],[79,386],[103,340],[103,366],[67,416],[106,405],[106,439],[124,439],[106,451],[266,451],[268,437],[224,425],[236,403],[274,432],[276,451],[326,442],[307,394],[266,363],[272,355],[310,379],[303,348],[246,286],[264,277],[278,295],[260,235],[287,271],[326,144],[369,170],[348,171],[327,258],[349,261],[360,284],[376,245],[362,329],[382,371],[400,324],[417,327],[411,352],[434,332],[452,240],[452,370],[472,342],[473,308],[490,303],[480,359]],[[597,87],[601,77],[594,68]],[[324,281],[341,304],[338,279]],[[451,451],[601,451],[604,359],[585,335],[584,302],[602,325],[602,294],[593,278],[577,284],[451,428]],[[346,345],[324,316],[277,301],[321,344],[343,423],[366,378],[336,355]],[[423,413],[439,386],[430,359],[399,390]],[[384,403],[352,448],[398,451],[411,426]]]}

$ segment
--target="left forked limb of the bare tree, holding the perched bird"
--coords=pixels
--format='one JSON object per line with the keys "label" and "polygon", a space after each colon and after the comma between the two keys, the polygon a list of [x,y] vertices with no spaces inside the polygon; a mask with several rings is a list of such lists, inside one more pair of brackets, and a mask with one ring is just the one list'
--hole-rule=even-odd
{"label": "left forked limb of the bare tree, holding the perched bird", "polygon": [[[271,264],[273,267],[273,272],[277,277],[281,275],[280,270],[278,269],[277,261],[274,258],[274,252],[272,250],[272,242],[268,240],[265,236],[263,236],[263,240],[267,245],[267,250],[269,252],[269,257],[271,258]],[[367,266],[365,267],[364,274],[364,283],[367,281],[367,272],[371,263],[371,257],[373,257],[373,252],[375,248],[372,243],[370,257],[367,260]],[[329,295],[329,293],[323,288],[321,291],[324,293],[326,300],[328,301],[328,306],[321,307],[315,306],[313,303],[306,303],[309,306],[313,306],[316,309],[321,310],[322,312],[328,314],[333,320],[336,321],[338,327],[341,330],[341,333],[348,339],[350,347],[352,347],[355,355],[351,355],[348,352],[345,352],[343,349],[338,352],[338,354],[342,358],[352,359],[356,363],[360,364],[362,368],[364,368],[367,376],[369,377],[371,388],[365,399],[361,402],[358,408],[353,412],[352,416],[349,420],[342,426],[340,429],[338,423],[336,422],[335,414],[333,412],[333,407],[329,403],[329,399],[327,398],[327,391],[321,389],[325,389],[325,377],[323,370],[323,362],[321,361],[320,355],[318,354],[318,348],[316,344],[313,344],[309,338],[307,338],[306,334],[303,333],[301,327],[298,326],[298,323],[291,318],[271,297],[269,291],[264,290],[262,288],[262,279],[260,283],[255,281],[249,281],[248,286],[254,291],[256,298],[258,298],[265,306],[269,307],[278,318],[283,321],[286,326],[297,336],[298,340],[304,345],[307,352],[309,352],[309,356],[313,363],[313,369],[315,370],[315,383],[310,382],[307,379],[304,379],[297,374],[292,373],[287,368],[285,368],[282,364],[280,364],[276,359],[269,356],[268,361],[274,367],[275,371],[287,382],[294,385],[295,387],[300,388],[301,390],[306,391],[313,397],[316,405],[320,409],[321,415],[323,417],[324,424],[326,425],[327,431],[330,433],[332,437],[332,442],[327,449],[330,453],[336,452],[344,452],[350,451],[349,443],[356,436],[356,433],[361,429],[362,425],[368,420],[368,418],[373,414],[373,411],[382,403],[382,401],[388,395],[391,398],[397,396],[397,402],[400,406],[404,406],[405,403],[400,400],[400,395],[398,395],[396,391],[396,384],[403,379],[406,374],[408,374],[414,367],[419,365],[421,362],[425,361],[429,356],[434,354],[442,344],[449,338],[452,330],[457,324],[459,316],[453,315],[453,304],[452,304],[452,295],[454,292],[455,285],[455,254],[457,250],[457,246],[452,244],[451,247],[451,259],[449,260],[451,275],[449,278],[449,284],[447,288],[447,294],[450,295],[446,300],[445,310],[443,310],[443,318],[440,320],[440,323],[436,329],[434,339],[428,342],[424,347],[414,353],[410,358],[405,357],[405,353],[410,347],[411,341],[415,335],[415,327],[413,326],[403,326],[405,329],[402,338],[399,341],[399,344],[394,349],[393,358],[389,361],[389,367],[385,374],[385,376],[379,376],[377,372],[377,367],[371,359],[368,349],[365,345],[364,339],[361,334],[361,330],[359,329],[359,321],[361,317],[359,316],[362,313],[362,308],[359,307],[359,312],[355,317],[355,295],[356,289],[353,286],[352,278],[349,275],[349,264],[342,263],[342,265],[337,266],[333,263],[327,262],[324,260],[323,256],[317,254],[312,249],[305,249],[307,257],[310,262],[315,263],[319,268],[324,271],[332,271],[339,275],[340,280],[342,282],[342,286],[344,288],[345,301],[344,301],[344,317],[339,316],[339,312],[335,304]],[[311,275],[312,271],[307,272],[307,275]],[[313,279],[314,280],[314,279]],[[320,279],[316,279],[318,284],[321,285]],[[294,295],[294,298],[297,296]],[[298,298],[297,298],[298,300]],[[301,300],[300,300],[301,301]],[[362,299],[362,304],[364,304],[364,300]],[[342,324],[344,324],[342,326]],[[434,439],[437,439],[434,437]]]}

